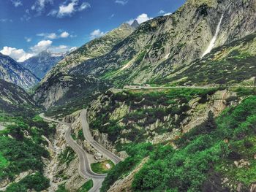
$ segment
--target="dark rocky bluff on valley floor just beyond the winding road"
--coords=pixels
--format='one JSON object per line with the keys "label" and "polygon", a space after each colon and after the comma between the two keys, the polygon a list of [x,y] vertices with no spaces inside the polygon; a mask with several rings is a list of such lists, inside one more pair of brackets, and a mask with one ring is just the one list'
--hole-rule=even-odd
{"label": "dark rocky bluff on valley floor just beyond the winding road", "polygon": [[34,100],[46,109],[67,105],[80,106],[89,102],[99,91],[108,88],[108,84],[95,77],[76,77],[58,73],[50,77],[34,92]]}

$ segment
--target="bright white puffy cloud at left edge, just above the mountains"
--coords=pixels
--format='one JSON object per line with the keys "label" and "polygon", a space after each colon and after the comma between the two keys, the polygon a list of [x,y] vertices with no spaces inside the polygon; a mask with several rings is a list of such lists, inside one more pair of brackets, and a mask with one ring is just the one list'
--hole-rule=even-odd
{"label": "bright white puffy cloud at left edge, just above the mountains", "polygon": [[23,49],[16,49],[14,47],[3,47],[0,51],[4,55],[8,55],[18,62],[23,62],[33,56],[32,53],[26,53]]}

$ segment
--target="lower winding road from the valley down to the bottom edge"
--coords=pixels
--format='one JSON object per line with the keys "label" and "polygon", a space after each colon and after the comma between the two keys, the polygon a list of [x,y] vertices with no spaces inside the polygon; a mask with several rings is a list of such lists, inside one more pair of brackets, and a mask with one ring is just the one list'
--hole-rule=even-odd
{"label": "lower winding road from the valley down to the bottom edge", "polygon": [[80,164],[78,166],[78,172],[80,176],[83,177],[84,179],[87,180],[88,178],[91,178],[94,181],[94,186],[93,188],[91,188],[90,192],[99,191],[99,188],[101,188],[102,182],[107,176],[107,174],[97,174],[91,171],[91,166],[86,151],[83,150],[83,147],[80,147],[80,145],[78,145],[71,137],[71,123],[46,118],[43,114],[40,114],[39,116],[44,120],[52,121],[55,123],[61,123],[65,126],[68,126],[67,131],[65,131],[64,137],[67,144],[75,151],[75,153],[78,154],[78,158],[80,161]]}

